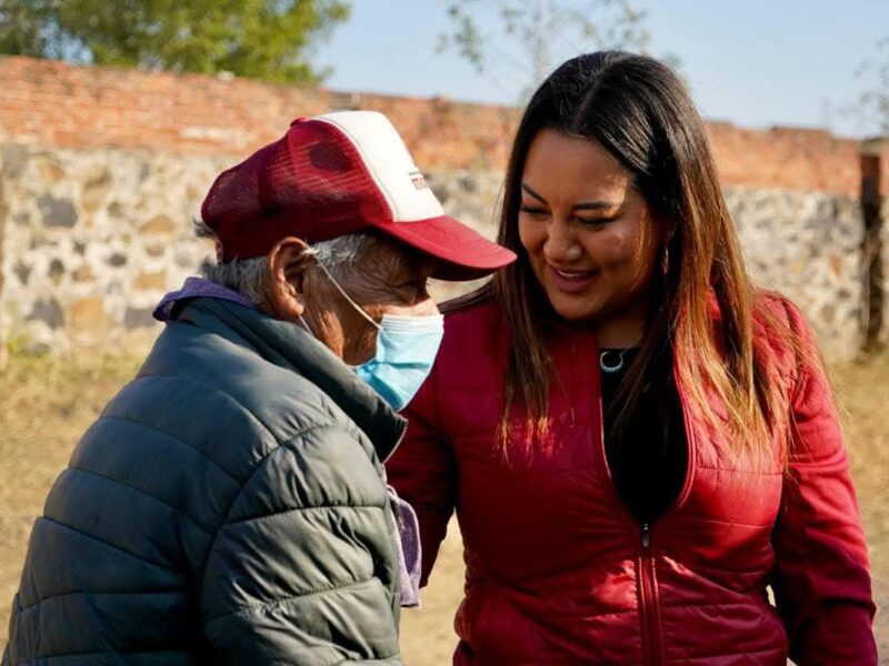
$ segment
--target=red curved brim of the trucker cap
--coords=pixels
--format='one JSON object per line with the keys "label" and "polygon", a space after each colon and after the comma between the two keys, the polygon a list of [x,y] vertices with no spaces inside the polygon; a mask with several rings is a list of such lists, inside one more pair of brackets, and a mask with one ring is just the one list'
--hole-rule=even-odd
{"label": "red curved brim of the trucker cap", "polygon": [[516,261],[515,252],[448,215],[416,222],[378,222],[371,226],[434,258],[432,278],[439,280],[476,280]]}

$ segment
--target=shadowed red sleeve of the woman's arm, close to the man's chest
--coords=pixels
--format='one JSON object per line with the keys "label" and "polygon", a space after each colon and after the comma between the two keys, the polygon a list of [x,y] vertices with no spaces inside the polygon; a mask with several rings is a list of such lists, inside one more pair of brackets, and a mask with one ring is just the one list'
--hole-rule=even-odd
{"label": "shadowed red sleeve of the woman's arm, close to the man's chest", "polygon": [[421,586],[429,582],[457,495],[457,462],[440,424],[436,379],[433,370],[404,411],[408,433],[386,463],[389,483],[417,513],[422,547]]}

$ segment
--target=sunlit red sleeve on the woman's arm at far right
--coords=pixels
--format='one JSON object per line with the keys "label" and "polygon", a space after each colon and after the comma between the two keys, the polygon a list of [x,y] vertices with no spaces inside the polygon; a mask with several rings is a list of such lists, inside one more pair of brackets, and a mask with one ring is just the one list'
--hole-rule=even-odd
{"label": "sunlit red sleeve on the woman's arm at far right", "polygon": [[[802,315],[789,304],[788,314],[802,344],[815,350]],[[800,666],[876,666],[867,545],[842,432],[820,363],[799,364],[790,416],[772,583],[790,657]]]}

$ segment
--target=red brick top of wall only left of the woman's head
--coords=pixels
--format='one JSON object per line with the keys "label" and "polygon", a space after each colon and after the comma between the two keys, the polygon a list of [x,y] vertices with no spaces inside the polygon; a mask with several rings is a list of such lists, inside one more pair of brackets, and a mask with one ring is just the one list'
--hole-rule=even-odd
{"label": "red brick top of wall only left of the woman's head", "polygon": [[506,162],[513,109],[0,58],[0,138],[60,148],[246,155],[298,115],[356,103],[387,113],[424,169]]}

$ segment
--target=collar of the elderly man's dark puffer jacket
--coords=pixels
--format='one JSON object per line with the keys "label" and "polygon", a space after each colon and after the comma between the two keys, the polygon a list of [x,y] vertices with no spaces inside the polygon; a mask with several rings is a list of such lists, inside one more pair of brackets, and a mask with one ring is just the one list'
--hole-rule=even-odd
{"label": "collar of the elderly man's dark puffer jacket", "polygon": [[311,334],[254,307],[212,297],[189,300],[177,320],[248,346],[269,363],[292,370],[323,391],[370,438],[386,462],[408,422]]}

